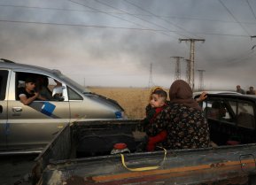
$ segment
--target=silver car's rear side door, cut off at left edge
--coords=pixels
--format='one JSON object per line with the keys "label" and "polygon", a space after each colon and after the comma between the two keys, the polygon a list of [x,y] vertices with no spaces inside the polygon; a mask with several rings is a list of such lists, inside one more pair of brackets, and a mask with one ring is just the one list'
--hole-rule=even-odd
{"label": "silver car's rear side door, cut off at left edge", "polygon": [[8,70],[0,69],[0,150],[7,147],[9,124],[7,121]]}

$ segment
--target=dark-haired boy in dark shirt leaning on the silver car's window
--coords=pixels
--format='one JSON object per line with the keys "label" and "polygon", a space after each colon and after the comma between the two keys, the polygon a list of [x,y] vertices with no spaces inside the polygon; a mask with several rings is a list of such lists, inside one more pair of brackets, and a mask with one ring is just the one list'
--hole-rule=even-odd
{"label": "dark-haired boy in dark shirt leaning on the silver car's window", "polygon": [[28,77],[25,81],[25,88],[19,89],[19,100],[22,104],[31,104],[35,99],[46,100],[38,92],[35,92],[35,79]]}

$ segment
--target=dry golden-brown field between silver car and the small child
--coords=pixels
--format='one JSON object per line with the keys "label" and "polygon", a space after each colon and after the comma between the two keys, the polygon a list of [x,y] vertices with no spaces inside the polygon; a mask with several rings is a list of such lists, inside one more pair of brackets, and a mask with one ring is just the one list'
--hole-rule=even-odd
{"label": "dry golden-brown field between silver car and the small child", "polygon": [[128,119],[144,119],[151,89],[102,87],[89,87],[89,89],[94,93],[116,100],[124,108]]}

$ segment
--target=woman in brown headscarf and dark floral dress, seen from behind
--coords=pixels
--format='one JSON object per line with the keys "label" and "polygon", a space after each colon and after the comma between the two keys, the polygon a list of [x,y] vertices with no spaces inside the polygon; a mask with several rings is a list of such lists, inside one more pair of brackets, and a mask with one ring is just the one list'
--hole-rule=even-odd
{"label": "woman in brown headscarf and dark floral dress, seen from behind", "polygon": [[209,147],[207,120],[192,95],[186,81],[174,81],[169,90],[170,104],[146,127],[147,135],[167,130],[167,140],[162,146],[171,150]]}

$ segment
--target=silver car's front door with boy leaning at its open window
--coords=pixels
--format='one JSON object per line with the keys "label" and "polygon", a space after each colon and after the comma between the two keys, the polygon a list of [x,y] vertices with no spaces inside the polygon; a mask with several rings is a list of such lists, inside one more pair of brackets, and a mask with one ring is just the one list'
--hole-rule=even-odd
{"label": "silver car's front door with boy leaning at its open window", "polygon": [[[12,87],[15,92],[8,101],[10,134],[8,145],[10,149],[37,149],[42,148],[58,131],[70,121],[69,103],[66,98],[62,102],[55,100],[35,100],[29,105],[19,101],[18,87],[24,81],[24,76],[35,76],[39,73],[12,73]],[[50,78],[47,76],[47,78]],[[15,85],[14,85],[15,84]],[[65,85],[65,84],[64,84]],[[67,96],[66,96],[67,97]],[[43,104],[50,103],[55,106],[52,114],[42,112]],[[45,106],[44,106],[45,107]]]}

